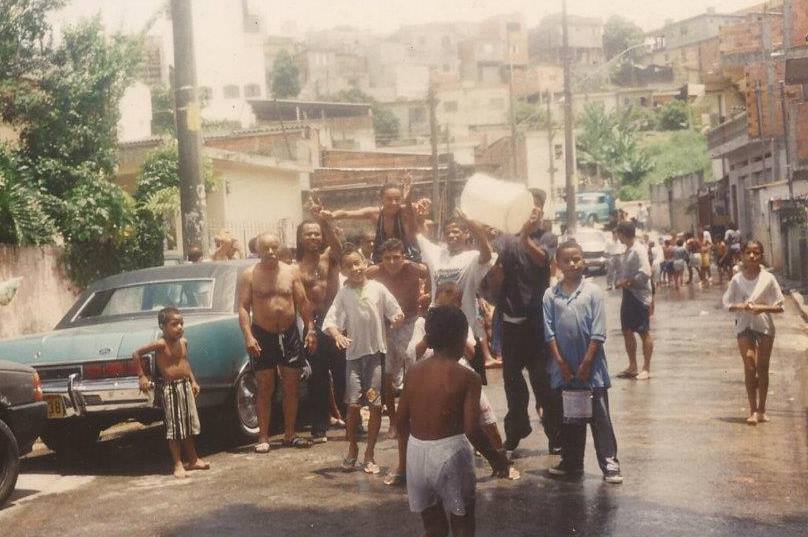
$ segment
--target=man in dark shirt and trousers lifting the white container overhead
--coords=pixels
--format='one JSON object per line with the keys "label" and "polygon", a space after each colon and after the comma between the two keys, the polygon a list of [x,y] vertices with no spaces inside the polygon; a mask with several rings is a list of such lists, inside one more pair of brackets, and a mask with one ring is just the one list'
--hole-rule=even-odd
{"label": "man in dark shirt and trousers lifting the white container overhead", "polygon": [[508,413],[505,449],[513,451],[531,432],[530,393],[522,371],[527,369],[536,410],[541,417],[550,453],[561,450],[561,409],[553,398],[547,373],[541,302],[550,286],[551,264],[558,239],[542,228],[545,195],[534,191],[535,208],[517,235],[502,235],[495,243],[499,259],[494,280],[499,284],[497,314],[502,318],[502,376]]}

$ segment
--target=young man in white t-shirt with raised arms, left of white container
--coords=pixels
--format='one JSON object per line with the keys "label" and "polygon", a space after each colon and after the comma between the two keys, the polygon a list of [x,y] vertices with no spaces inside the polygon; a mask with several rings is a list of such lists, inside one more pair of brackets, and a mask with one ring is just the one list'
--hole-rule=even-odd
{"label": "young man in white t-shirt with raised arms, left of white container", "polygon": [[[480,289],[483,278],[494,266],[496,254],[492,252],[488,234],[479,222],[469,220],[462,214],[451,218],[443,226],[446,242],[435,244],[424,236],[424,219],[423,215],[419,216],[419,231],[416,240],[421,249],[421,261],[429,269],[431,289],[433,290],[431,305],[435,305],[434,290],[439,285],[446,282],[458,285],[463,294],[460,309],[463,310],[474,337],[478,340],[472,366],[483,377],[483,383],[485,383],[485,369],[479,345],[479,340],[484,335],[484,329],[477,318],[477,291]],[[469,234],[474,239],[478,250],[467,248]]]}

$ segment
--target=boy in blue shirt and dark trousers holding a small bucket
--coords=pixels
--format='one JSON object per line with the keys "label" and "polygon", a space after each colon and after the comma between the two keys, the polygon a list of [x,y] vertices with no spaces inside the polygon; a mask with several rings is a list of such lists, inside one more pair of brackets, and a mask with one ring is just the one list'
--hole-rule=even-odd
{"label": "boy in blue shirt and dark trousers holding a small bucket", "polygon": [[[558,247],[558,267],[564,279],[544,293],[544,337],[552,361],[547,369],[550,386],[561,399],[562,389],[592,390],[592,436],[603,479],[622,483],[617,441],[609,416],[607,390],[611,386],[603,342],[606,341],[606,303],[603,290],[584,279],[583,251],[574,241]],[[561,426],[561,462],[550,468],[555,476],[580,476],[584,467],[586,422]]]}

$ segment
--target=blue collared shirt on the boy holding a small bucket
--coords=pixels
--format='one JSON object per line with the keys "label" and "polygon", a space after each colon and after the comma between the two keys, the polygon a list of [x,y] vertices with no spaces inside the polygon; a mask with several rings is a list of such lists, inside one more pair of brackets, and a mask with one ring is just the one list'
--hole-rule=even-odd
{"label": "blue collared shirt on the boy holding a small bucket", "polygon": [[[578,289],[566,295],[559,282],[544,293],[542,306],[544,339],[547,342],[556,341],[561,356],[574,374],[584,360],[589,342],[606,341],[606,298],[603,290],[584,278]],[[603,345],[595,354],[586,384],[578,379],[565,383],[555,360],[548,360],[547,372],[553,389],[611,387]]]}

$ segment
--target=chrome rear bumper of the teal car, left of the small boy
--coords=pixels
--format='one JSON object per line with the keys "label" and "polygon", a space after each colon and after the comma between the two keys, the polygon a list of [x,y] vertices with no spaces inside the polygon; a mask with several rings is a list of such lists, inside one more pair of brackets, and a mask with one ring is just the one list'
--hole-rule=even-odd
{"label": "chrome rear bumper of the teal car, left of the small boy", "polygon": [[50,419],[153,408],[153,398],[140,391],[137,377],[81,380],[71,375],[67,383],[44,384],[42,391]]}

